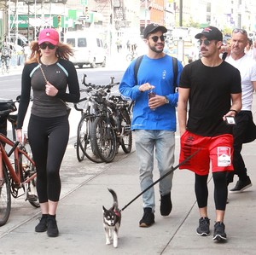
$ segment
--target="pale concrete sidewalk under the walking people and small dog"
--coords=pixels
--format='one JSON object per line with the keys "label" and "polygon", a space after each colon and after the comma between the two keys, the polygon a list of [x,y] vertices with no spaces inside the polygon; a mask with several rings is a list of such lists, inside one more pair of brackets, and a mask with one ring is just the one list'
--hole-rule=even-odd
{"label": "pale concrete sidewalk under the walking people and small dog", "polygon": [[[256,95],[253,96],[253,114],[256,120]],[[71,121],[79,117],[72,113]],[[73,132],[73,131],[72,131]],[[179,136],[176,136],[176,164],[179,153]],[[211,235],[200,237],[198,208],[195,203],[194,175],[190,171],[175,171],[172,188],[173,209],[169,217],[160,217],[160,195],[157,185],[155,224],[143,229],[138,222],[143,216],[142,199],[138,198],[122,213],[119,231],[119,247],[105,245],[102,228],[102,206],[112,206],[113,200],[107,188],[113,188],[119,197],[119,207],[128,204],[140,193],[137,157],[119,154],[112,163],[95,164],[89,160],[78,162],[70,137],[67,153],[61,167],[62,192],[57,221],[60,236],[49,238],[46,233],[35,233],[40,212],[23,198],[12,200],[9,222],[0,228],[0,254],[248,254],[256,251],[256,141],[246,144],[243,155],[248,173],[254,183],[241,194],[230,194],[230,203],[224,223],[228,241],[223,244],[212,241],[214,225],[213,185],[209,178],[209,217]],[[156,168],[155,168],[156,169]],[[154,171],[154,180],[158,172]],[[233,188],[235,183],[230,186]]]}

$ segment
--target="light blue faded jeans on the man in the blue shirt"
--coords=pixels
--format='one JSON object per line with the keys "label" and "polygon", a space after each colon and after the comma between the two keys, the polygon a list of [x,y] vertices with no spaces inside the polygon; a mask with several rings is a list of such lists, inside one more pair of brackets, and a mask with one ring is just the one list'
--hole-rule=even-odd
{"label": "light blue faded jeans on the man in the blue shirt", "polygon": [[[160,177],[170,171],[174,164],[175,136],[170,130],[135,130],[137,158],[140,164],[141,190],[148,188],[153,181],[154,149]],[[173,172],[159,183],[160,194],[171,192]],[[154,187],[143,193],[143,208],[150,207],[154,212]]]}

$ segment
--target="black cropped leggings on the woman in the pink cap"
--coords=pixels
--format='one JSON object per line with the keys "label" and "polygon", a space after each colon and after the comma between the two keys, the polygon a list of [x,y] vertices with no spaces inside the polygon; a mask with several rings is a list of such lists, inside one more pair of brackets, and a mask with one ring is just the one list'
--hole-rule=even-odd
{"label": "black cropped leggings on the woman in the pink cap", "polygon": [[68,136],[67,115],[55,118],[31,115],[28,138],[37,168],[37,190],[40,203],[60,199],[60,168],[67,148]]}

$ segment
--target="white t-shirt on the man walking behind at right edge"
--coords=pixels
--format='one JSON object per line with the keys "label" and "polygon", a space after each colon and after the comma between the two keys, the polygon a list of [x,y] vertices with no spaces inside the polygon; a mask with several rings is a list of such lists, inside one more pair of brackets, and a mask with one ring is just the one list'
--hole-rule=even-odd
{"label": "white t-shirt on the man walking behind at right edge", "polygon": [[248,55],[244,55],[239,60],[234,60],[231,55],[225,61],[236,67],[241,74],[241,110],[251,111],[253,104],[253,81],[256,81],[256,61]]}

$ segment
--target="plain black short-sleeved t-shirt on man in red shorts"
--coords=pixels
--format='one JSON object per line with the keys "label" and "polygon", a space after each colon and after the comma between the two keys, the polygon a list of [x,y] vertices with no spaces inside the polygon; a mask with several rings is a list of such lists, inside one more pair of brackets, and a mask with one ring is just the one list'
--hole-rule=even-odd
{"label": "plain black short-sleeved t-shirt on man in red shorts", "polygon": [[179,87],[190,89],[187,130],[200,136],[232,133],[223,116],[230,110],[230,94],[241,93],[238,69],[225,61],[218,67],[194,61],[183,68]]}

